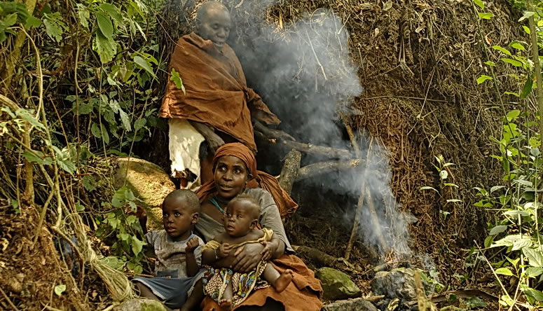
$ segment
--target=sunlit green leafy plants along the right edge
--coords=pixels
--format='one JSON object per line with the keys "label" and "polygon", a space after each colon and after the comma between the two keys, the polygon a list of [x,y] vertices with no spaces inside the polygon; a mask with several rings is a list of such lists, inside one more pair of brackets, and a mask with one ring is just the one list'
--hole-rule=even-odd
{"label": "sunlit green leafy plants along the right edge", "polygon": [[[483,8],[479,0],[474,0],[474,4],[474,8]],[[527,11],[518,22],[536,16],[539,19],[539,15]],[[485,19],[481,13],[479,18]],[[537,21],[537,25],[540,23],[542,20]],[[526,34],[532,33],[529,27],[523,26],[523,29]],[[541,38],[539,31],[537,34]],[[502,54],[499,60],[504,66],[512,66],[518,70],[516,74],[507,76],[516,82],[518,90],[504,94],[514,95],[521,102],[515,103],[509,111],[502,105],[500,136],[490,137],[490,141],[497,147],[497,153],[490,157],[502,167],[502,184],[488,190],[476,188],[480,200],[475,206],[491,211],[494,216],[493,221],[488,223],[489,234],[484,241],[484,247],[497,252],[491,257],[494,258],[491,265],[503,291],[500,303],[511,307],[519,301],[525,301],[529,309],[539,309],[543,307],[543,247],[539,228],[539,223],[543,220],[539,212],[542,207],[539,201],[542,195],[543,158],[539,150],[541,133],[538,126],[538,114],[542,111],[532,108],[531,103],[535,102],[532,92],[534,64],[528,58],[532,49],[525,46],[528,46],[528,43],[518,40],[509,43],[509,47],[514,49],[511,51],[502,46],[492,47]],[[535,50],[537,51],[537,48]],[[489,62],[493,61],[496,60],[485,62],[490,71],[492,69]],[[495,76],[489,78],[495,79]],[[481,84],[482,81],[484,80],[480,82],[478,79],[477,83]],[[521,295],[510,292],[503,286],[510,282],[518,284]]]}

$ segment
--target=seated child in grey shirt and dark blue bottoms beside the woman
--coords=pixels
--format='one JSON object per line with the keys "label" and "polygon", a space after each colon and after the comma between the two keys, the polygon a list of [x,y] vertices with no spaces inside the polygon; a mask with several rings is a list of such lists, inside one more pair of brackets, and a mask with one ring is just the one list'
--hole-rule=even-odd
{"label": "seated child in grey shirt and dark blue bottoms beside the woman", "polygon": [[202,298],[202,289],[194,289],[200,270],[203,240],[191,231],[198,221],[200,202],[189,190],[168,194],[162,204],[163,230],[146,233],[145,240],[156,257],[156,277],[136,277],[141,296],[160,300],[172,309],[190,310]]}

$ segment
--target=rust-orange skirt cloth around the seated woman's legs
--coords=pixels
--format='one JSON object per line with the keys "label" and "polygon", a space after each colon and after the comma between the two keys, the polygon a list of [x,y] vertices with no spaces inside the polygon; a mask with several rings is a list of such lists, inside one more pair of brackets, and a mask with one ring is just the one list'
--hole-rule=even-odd
{"label": "rust-orange skirt cloth around the seated woman's legs", "polygon": [[[322,295],[320,281],[315,278],[315,273],[300,258],[285,254],[271,261],[271,263],[280,273],[286,269],[291,269],[294,272],[294,279],[292,279],[291,284],[280,293],[277,293],[273,286],[254,291],[235,309],[244,305],[263,306],[266,303],[266,298],[282,303],[285,311],[319,311],[322,309],[322,303],[319,300]],[[201,307],[204,311],[224,310],[209,297],[204,298]]]}

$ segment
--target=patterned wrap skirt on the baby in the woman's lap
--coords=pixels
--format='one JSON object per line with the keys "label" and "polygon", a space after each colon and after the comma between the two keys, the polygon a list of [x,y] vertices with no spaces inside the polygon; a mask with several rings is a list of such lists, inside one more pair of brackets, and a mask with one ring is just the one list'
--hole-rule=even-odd
{"label": "patterned wrap skirt on the baby in the woman's lap", "polygon": [[239,305],[253,290],[265,289],[270,284],[261,277],[266,269],[266,261],[261,261],[255,270],[247,273],[234,272],[228,268],[212,268],[208,265],[202,267],[205,272],[202,276],[204,293],[219,303],[224,296],[228,284],[232,284],[232,307]]}

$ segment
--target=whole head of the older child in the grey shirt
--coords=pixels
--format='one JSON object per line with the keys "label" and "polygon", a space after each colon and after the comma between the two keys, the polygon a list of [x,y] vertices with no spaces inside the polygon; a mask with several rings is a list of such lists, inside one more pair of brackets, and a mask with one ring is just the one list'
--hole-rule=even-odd
{"label": "whole head of the older child in the grey shirt", "polygon": [[186,189],[172,191],[162,203],[164,230],[176,242],[186,240],[199,213],[200,201],[195,193]]}

